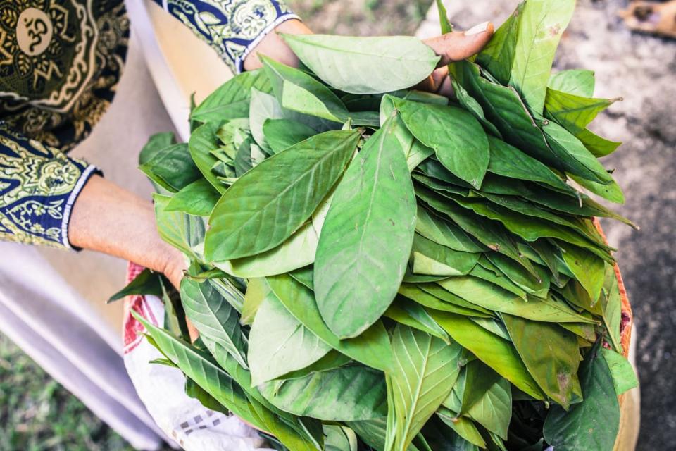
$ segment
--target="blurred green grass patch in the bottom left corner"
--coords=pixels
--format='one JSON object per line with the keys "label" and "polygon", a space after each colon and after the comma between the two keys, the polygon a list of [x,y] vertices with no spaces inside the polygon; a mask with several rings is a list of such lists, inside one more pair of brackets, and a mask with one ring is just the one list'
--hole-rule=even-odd
{"label": "blurred green grass patch in the bottom left corner", "polygon": [[132,451],[125,440],[0,335],[0,450]]}

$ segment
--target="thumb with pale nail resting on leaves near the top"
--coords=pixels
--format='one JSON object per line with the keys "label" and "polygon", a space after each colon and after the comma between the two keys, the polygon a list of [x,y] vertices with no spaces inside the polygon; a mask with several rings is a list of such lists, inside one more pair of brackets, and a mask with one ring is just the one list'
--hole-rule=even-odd
{"label": "thumb with pale nail resting on leaves near the top", "polygon": [[493,36],[493,29],[492,23],[484,22],[464,32],[446,33],[423,42],[442,57],[437,66],[446,66],[479,53]]}

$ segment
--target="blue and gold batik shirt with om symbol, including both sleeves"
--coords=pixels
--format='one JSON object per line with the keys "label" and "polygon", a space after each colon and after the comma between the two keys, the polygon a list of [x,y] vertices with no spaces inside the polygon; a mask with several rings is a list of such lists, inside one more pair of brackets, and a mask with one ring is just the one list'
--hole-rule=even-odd
{"label": "blue and gold batik shirt with om symbol, including both sleeves", "polygon": [[[235,73],[296,18],[277,0],[154,1]],[[70,248],[70,210],[99,171],[67,153],[111,104],[129,29],[123,0],[0,0],[0,240]]]}

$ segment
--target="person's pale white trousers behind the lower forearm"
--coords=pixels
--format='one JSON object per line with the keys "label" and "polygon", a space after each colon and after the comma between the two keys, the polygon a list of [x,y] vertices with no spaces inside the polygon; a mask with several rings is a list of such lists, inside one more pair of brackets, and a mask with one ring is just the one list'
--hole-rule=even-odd
{"label": "person's pale white trousers behind the lower forearm", "polygon": [[[167,130],[173,124],[132,32],[113,104],[71,154],[150,199],[137,157],[149,135]],[[0,242],[0,331],[132,446],[152,450],[163,435],[123,364],[123,304],[106,305],[125,274],[125,261],[104,254]]]}

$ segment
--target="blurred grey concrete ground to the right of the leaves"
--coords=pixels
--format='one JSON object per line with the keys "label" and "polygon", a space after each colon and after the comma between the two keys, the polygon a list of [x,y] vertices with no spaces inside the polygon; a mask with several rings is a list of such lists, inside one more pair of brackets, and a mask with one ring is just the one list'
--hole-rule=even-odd
{"label": "blurred grey concrete ground to the right of the leaves", "polygon": [[[446,3],[446,2],[445,2]],[[500,24],[516,0],[448,1],[460,30],[484,20]],[[592,129],[624,144],[603,160],[627,202],[621,214],[636,232],[603,227],[625,278],[637,326],[641,434],[637,450],[676,449],[676,41],[629,32],[617,18],[622,0],[580,0],[559,47],[558,69],[596,71],[597,97],[623,97]],[[420,35],[437,32],[432,9]]]}

